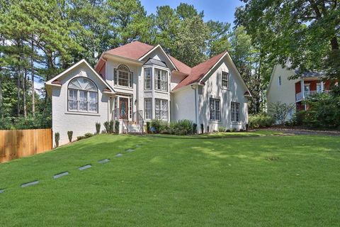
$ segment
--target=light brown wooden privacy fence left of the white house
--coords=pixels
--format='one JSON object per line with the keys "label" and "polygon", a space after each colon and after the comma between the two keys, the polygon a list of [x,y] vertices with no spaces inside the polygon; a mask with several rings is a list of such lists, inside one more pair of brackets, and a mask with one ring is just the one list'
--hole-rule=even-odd
{"label": "light brown wooden privacy fence left of the white house", "polygon": [[52,150],[52,128],[0,130],[0,163]]}

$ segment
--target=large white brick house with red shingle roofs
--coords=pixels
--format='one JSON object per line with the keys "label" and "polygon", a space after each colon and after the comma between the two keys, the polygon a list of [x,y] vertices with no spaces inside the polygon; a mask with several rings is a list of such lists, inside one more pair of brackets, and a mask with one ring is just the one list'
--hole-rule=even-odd
{"label": "large white brick house with red shingle roofs", "polygon": [[46,82],[52,129],[67,143],[94,133],[95,123],[120,121],[120,133],[140,133],[145,121],[188,119],[205,132],[246,128],[250,97],[227,51],[196,67],[138,41],[103,52],[94,69],[81,60]]}

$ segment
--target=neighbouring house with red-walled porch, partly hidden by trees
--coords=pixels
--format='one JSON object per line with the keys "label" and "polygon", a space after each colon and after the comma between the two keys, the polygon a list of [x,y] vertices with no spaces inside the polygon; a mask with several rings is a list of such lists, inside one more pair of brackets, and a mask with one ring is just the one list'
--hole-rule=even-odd
{"label": "neighbouring house with red-walled porch, partly hidden by trees", "polygon": [[[286,67],[276,65],[268,84],[267,103],[295,104],[296,111],[306,110],[307,106],[302,104],[303,99],[317,93],[330,92],[330,82],[322,81],[322,74],[319,72],[305,72],[297,79],[289,79],[297,74],[298,70],[288,70]],[[288,118],[293,114],[291,113]]]}

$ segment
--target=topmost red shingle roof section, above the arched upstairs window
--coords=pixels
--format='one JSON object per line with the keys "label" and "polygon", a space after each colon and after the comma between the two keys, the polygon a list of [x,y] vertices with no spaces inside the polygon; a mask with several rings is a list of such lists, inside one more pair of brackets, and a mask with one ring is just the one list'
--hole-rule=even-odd
{"label": "topmost red shingle roof section, above the arched upstairs window", "polygon": [[140,43],[139,41],[134,41],[132,43],[128,43],[126,45],[122,45],[118,48],[114,48],[112,50],[108,50],[106,52],[112,55],[118,55],[122,57],[128,57],[133,60],[138,60],[140,57],[145,55],[147,52],[154,48],[153,45],[148,45],[146,43]]}

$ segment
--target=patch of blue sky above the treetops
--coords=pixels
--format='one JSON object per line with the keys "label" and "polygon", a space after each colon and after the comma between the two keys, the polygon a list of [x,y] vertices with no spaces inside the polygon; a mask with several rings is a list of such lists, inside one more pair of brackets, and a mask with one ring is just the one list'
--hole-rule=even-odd
{"label": "patch of blue sky above the treetops", "polygon": [[140,0],[147,14],[155,13],[157,6],[169,5],[176,8],[181,2],[195,6],[198,11],[204,11],[204,20],[233,23],[237,6],[242,6],[239,0]]}

